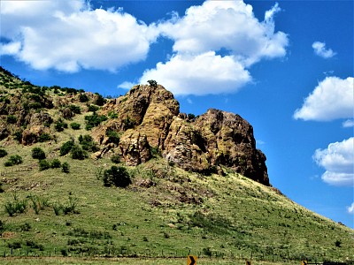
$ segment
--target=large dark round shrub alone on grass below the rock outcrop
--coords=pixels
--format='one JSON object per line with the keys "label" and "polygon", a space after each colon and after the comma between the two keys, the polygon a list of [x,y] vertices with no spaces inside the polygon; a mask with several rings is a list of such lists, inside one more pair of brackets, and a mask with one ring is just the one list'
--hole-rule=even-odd
{"label": "large dark round shrub alone on grass below the rock outcrop", "polygon": [[126,187],[132,183],[127,169],[112,166],[110,170],[104,170],[104,186]]}

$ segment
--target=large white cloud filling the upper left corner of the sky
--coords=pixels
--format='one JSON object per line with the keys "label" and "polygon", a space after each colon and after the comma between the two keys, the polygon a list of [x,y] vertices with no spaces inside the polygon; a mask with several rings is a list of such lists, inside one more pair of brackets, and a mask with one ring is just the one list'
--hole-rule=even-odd
{"label": "large white cloud filling the upper left corner of the sky", "polygon": [[145,59],[158,36],[154,25],[120,10],[91,10],[83,1],[5,1],[1,12],[2,27],[9,25],[2,36],[10,40],[2,54],[39,70],[115,71]]}

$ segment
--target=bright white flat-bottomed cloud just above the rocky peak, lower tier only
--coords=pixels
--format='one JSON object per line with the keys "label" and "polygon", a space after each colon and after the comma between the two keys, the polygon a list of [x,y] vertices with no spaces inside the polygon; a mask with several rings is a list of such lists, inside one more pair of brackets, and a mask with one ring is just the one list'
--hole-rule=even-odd
{"label": "bright white flat-bottomed cloud just above the rocky peak, lower tier only", "polygon": [[155,79],[175,95],[230,93],[250,81],[250,73],[234,57],[210,51],[197,56],[177,54],[145,71],[140,83]]}

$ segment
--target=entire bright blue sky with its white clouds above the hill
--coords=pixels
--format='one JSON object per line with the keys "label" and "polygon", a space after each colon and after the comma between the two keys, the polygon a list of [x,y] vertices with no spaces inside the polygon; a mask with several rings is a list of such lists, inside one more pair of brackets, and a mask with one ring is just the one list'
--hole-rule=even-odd
{"label": "entire bright blue sky with its white clouds above the hill", "polygon": [[6,1],[1,65],[124,95],[156,79],[181,112],[240,114],[273,186],[354,228],[352,1]]}

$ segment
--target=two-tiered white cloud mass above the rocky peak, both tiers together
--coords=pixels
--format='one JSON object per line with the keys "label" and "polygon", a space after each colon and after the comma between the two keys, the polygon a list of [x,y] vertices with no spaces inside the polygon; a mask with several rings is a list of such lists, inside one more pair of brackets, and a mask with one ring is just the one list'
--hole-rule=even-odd
{"label": "two-tiered white cloud mass above the rocky peak, both tiers together", "polygon": [[[242,1],[206,1],[158,25],[173,40],[173,57],[143,73],[176,95],[233,93],[250,82],[250,65],[263,58],[283,57],[288,37],[274,32],[275,4],[265,20],[255,18]],[[227,54],[219,55],[220,50]]]}

